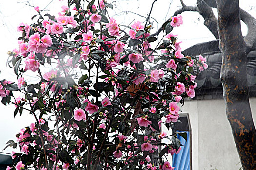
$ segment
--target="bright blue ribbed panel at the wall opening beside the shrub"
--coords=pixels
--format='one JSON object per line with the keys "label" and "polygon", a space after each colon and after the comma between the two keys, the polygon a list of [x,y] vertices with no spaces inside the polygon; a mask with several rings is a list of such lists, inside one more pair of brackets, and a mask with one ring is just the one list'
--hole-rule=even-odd
{"label": "bright blue ribbed panel at the wall opening beside the shrub", "polygon": [[178,154],[173,155],[173,167],[174,170],[190,170],[190,133],[187,131],[177,131],[177,132],[186,132],[187,133],[187,142],[186,140],[177,134],[177,138],[180,140],[181,150]]}

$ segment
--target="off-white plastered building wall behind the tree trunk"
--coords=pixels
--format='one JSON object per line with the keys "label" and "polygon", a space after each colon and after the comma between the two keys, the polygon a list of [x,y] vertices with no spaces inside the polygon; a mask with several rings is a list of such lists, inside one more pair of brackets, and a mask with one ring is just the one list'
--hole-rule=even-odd
{"label": "off-white plastered building wall behind the tree trunk", "polygon": [[[256,98],[250,99],[256,124]],[[192,129],[193,170],[239,170],[239,156],[222,99],[186,101]]]}

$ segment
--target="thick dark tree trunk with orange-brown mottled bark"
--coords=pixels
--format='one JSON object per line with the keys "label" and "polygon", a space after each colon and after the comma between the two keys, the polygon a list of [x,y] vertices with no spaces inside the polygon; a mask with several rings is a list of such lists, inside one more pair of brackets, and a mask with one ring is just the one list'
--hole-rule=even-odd
{"label": "thick dark tree trunk with orange-brown mottled bark", "polygon": [[246,74],[246,44],[240,25],[239,0],[217,0],[221,81],[236,148],[244,170],[256,170],[256,130]]}

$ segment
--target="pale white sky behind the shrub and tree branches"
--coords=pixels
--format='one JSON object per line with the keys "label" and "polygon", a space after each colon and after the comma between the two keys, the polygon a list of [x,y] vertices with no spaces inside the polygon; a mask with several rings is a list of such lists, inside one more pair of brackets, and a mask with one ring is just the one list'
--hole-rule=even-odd
{"label": "pale white sky behind the shrub and tree branches", "polygon": [[[8,79],[15,81],[16,76],[12,68],[6,67],[8,55],[7,51],[12,51],[14,48],[18,49],[17,38],[20,33],[16,31],[20,22],[31,24],[31,17],[37,12],[33,7],[26,5],[28,0],[1,0],[0,2],[0,80]],[[66,0],[64,0],[66,1]],[[47,9],[52,13],[57,14],[61,11],[61,6],[66,5],[64,1],[59,0],[29,0],[30,5],[39,6],[40,9],[45,8],[50,2]],[[111,2],[112,0],[107,0]],[[114,1],[114,0],[113,0]],[[147,16],[150,11],[151,4],[154,0],[117,0],[114,5],[115,11],[110,11],[110,16],[118,14],[122,11],[132,11],[142,16]],[[195,5],[197,0],[183,0],[187,6]],[[256,18],[256,1],[241,0],[240,7],[248,11]],[[159,28],[166,19],[170,18],[172,14],[181,7],[179,0],[158,0],[154,4],[151,17],[155,18],[153,27]],[[217,10],[215,10],[217,12]],[[56,15],[57,16],[57,15]],[[191,45],[214,40],[214,36],[203,25],[203,18],[197,12],[184,12],[182,13],[184,24],[180,27],[174,28],[172,33],[178,34],[178,41],[182,41],[182,49],[186,49]],[[121,13],[115,16],[117,23],[120,25],[129,24],[137,20],[144,21],[145,19],[131,13]],[[244,28],[244,27],[243,27]],[[152,31],[154,33],[154,31]],[[246,34],[246,29],[243,29],[243,34]],[[30,77],[33,79],[33,77]],[[20,129],[29,126],[34,122],[32,115],[23,113],[22,116],[17,114],[13,118],[14,106],[4,106],[0,104],[0,151],[5,147],[5,143],[12,139],[16,140],[15,134],[20,132]],[[3,152],[11,153],[12,149],[8,148]]]}

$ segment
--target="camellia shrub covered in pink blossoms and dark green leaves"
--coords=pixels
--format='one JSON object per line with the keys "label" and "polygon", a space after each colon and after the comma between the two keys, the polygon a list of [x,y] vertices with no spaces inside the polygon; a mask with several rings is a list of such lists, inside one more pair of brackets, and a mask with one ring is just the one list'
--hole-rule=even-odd
{"label": "camellia shrub covered in pink blossoms and dark green leaves", "polygon": [[[7,142],[20,148],[8,170],[173,170],[165,155],[182,146],[161,126],[178,121],[207,64],[184,56],[171,33],[150,36],[147,21],[122,28],[107,17],[112,8],[68,0],[59,17],[36,7],[36,22],[18,26],[19,48],[8,60],[17,82],[2,80],[0,96],[16,106],[14,116],[29,112],[35,123]],[[182,23],[174,16],[163,30]]]}

